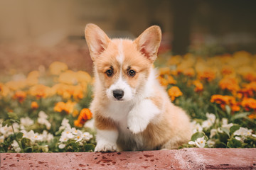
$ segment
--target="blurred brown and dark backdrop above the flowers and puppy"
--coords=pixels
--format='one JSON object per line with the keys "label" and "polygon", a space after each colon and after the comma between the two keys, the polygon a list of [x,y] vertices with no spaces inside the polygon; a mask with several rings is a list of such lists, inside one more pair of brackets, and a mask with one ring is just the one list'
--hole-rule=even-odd
{"label": "blurred brown and dark backdrop above the flowers and puppy", "polygon": [[159,52],[174,55],[256,53],[253,0],[0,0],[0,73],[44,69],[54,61],[91,72],[87,23],[111,38],[136,38],[159,25]]}

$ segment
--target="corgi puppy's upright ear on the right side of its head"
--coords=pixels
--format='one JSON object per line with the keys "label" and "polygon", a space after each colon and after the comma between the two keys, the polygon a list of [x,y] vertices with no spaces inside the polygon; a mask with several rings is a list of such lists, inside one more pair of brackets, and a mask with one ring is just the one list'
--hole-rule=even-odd
{"label": "corgi puppy's upright ear on the right side of its head", "polygon": [[151,26],[147,28],[136,40],[134,40],[138,50],[151,62],[156,60],[160,42],[161,29],[159,26]]}

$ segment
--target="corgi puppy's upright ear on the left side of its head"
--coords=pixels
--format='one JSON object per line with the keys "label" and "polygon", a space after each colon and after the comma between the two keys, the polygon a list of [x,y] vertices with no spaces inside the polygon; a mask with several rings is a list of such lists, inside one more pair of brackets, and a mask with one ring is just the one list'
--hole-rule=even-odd
{"label": "corgi puppy's upright ear on the left side of its head", "polygon": [[93,61],[95,57],[107,49],[107,45],[110,42],[110,38],[107,37],[106,33],[92,23],[88,23],[85,26],[85,39]]}

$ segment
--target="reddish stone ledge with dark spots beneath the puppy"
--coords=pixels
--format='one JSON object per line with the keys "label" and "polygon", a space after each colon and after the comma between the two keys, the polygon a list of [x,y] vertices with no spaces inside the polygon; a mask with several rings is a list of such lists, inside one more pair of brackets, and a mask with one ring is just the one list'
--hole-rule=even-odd
{"label": "reddish stone ledge with dark spots beneath the puppy", "polygon": [[256,149],[0,154],[0,169],[256,169]]}

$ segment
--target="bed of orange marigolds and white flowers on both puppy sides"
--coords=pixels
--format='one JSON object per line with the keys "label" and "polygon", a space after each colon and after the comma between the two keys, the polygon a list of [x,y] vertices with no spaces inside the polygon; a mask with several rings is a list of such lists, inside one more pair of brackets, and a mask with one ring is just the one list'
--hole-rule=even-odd
{"label": "bed of orange marigolds and white flowers on both puppy sides", "polygon": [[[159,81],[191,115],[181,147],[256,147],[256,61],[248,52],[162,54]],[[0,83],[0,152],[91,152],[92,77],[63,62]]]}

